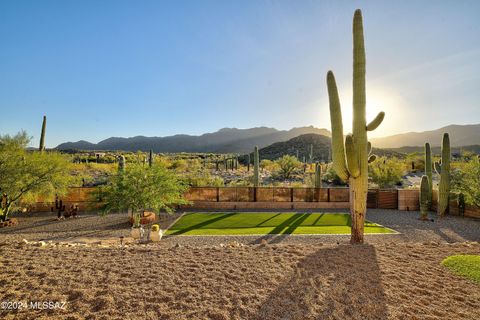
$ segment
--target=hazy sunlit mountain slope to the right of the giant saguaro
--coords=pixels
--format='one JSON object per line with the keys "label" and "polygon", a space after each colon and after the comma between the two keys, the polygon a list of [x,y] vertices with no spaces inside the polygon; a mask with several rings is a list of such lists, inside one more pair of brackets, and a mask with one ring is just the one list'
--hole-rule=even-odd
{"label": "hazy sunlit mountain slope to the right of the giant saguaro", "polygon": [[372,143],[379,148],[400,148],[405,146],[440,146],[445,132],[450,135],[452,147],[480,144],[480,124],[450,125],[437,130],[424,132],[409,132],[383,138],[373,138]]}

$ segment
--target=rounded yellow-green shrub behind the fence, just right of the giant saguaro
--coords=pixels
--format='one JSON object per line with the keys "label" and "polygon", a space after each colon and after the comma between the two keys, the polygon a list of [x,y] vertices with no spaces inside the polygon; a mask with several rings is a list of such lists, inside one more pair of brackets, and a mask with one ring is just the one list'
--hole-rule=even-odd
{"label": "rounded yellow-green shrub behind the fence, just right of the giant saguaro", "polygon": [[369,176],[379,188],[401,184],[403,170],[403,162],[397,158],[380,157],[368,166]]}

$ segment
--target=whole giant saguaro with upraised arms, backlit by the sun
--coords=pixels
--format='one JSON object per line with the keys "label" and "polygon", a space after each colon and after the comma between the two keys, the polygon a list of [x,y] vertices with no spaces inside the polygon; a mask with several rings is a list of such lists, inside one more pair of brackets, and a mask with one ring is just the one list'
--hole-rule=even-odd
{"label": "whole giant saguaro with upraised arms, backlit by the sun", "polygon": [[367,211],[368,162],[367,131],[375,130],[385,117],[380,112],[368,125],[366,123],[365,97],[365,46],[362,13],[356,10],[353,17],[353,134],[343,142],[343,123],[337,85],[332,71],[327,73],[330,121],[332,125],[333,168],[350,186],[351,243],[363,243],[365,214]]}

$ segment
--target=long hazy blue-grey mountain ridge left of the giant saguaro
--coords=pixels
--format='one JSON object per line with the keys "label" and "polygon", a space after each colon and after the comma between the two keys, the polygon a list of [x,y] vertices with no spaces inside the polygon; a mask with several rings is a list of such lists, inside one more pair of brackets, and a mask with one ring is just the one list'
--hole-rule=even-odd
{"label": "long hazy blue-grey mountain ridge left of the giant saguaro", "polygon": [[111,137],[97,144],[88,141],[66,142],[58,145],[57,150],[122,150],[154,152],[218,152],[247,153],[254,146],[263,148],[275,142],[286,141],[302,134],[315,133],[330,136],[327,129],[313,126],[291,130],[277,130],[268,127],[250,129],[223,128],[200,136],[174,135],[167,137],[131,138]]}

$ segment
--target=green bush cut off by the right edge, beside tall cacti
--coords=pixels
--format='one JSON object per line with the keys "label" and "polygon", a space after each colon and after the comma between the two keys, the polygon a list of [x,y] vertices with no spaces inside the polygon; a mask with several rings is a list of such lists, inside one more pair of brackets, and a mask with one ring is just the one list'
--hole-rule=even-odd
{"label": "green bush cut off by the right edge, beside tall cacti", "polygon": [[480,207],[480,160],[473,157],[461,167],[452,170],[452,190],[463,193],[465,203]]}

